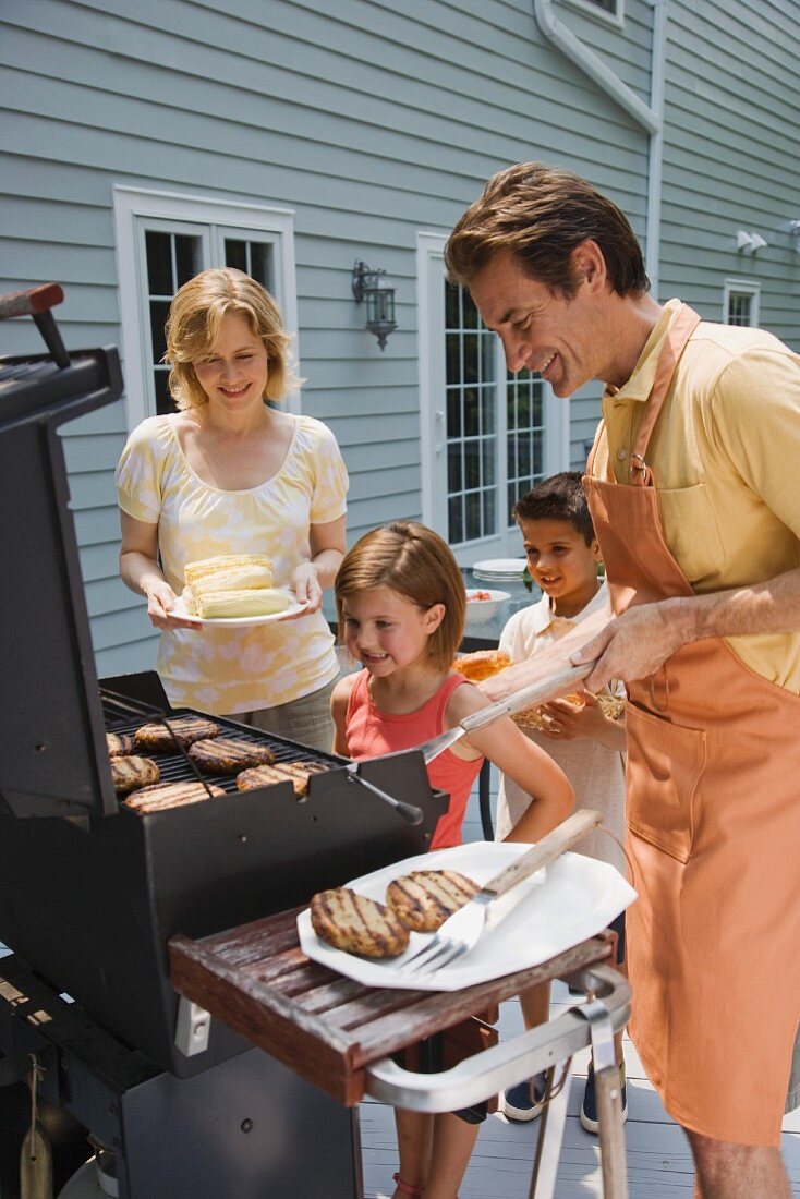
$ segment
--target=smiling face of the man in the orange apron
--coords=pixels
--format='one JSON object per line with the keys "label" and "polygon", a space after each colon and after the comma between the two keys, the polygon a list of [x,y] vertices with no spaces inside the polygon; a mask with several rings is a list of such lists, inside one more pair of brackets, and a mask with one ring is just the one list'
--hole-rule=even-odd
{"label": "smiling face of the man in the orange apron", "polygon": [[529,278],[507,251],[495,254],[470,283],[483,321],[500,335],[509,369],[528,367],[561,397],[590,379],[607,381],[608,330],[602,319],[607,293],[596,285],[581,248],[573,258],[579,282],[572,300]]}

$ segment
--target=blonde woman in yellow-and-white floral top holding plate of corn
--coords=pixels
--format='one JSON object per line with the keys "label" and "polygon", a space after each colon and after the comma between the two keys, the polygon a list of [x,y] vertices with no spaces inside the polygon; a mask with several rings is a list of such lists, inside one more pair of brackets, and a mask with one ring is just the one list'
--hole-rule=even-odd
{"label": "blonde woman in yellow-and-white floral top holding plate of corn", "polygon": [[[338,673],[320,611],[344,554],[347,471],[332,433],[272,408],[296,385],[290,338],[264,288],[203,271],[169,309],[169,387],[179,411],[143,421],[116,469],[120,574],[162,629],[156,668],[173,706],[234,716],[330,749]],[[198,627],[173,615],[187,562],[264,553],[302,614]]]}

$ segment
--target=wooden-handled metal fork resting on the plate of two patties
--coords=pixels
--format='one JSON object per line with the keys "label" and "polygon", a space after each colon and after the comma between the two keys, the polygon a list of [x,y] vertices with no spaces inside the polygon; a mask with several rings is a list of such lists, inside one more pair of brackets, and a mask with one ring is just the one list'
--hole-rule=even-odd
{"label": "wooden-handled metal fork resting on the plate of two patties", "polygon": [[[507,894],[518,882],[529,879],[531,874],[541,870],[545,866],[549,866],[565,850],[571,849],[576,842],[596,829],[601,821],[602,814],[594,808],[581,808],[579,812],[575,812],[557,829],[542,837],[528,852],[518,857],[516,862],[506,866],[504,870],[485,882],[465,906],[459,908],[444,922],[426,946],[417,950],[399,966],[401,972],[410,975],[435,974],[457,958],[469,953],[487,928],[492,928],[516,906],[513,903],[493,906],[495,900]],[[523,892],[519,893],[519,898],[522,897]]]}

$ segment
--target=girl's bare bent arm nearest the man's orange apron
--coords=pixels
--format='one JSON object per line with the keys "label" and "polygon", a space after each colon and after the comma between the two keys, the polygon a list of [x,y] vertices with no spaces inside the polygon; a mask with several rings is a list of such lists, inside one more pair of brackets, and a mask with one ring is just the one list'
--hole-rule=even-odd
{"label": "girl's bare bent arm nearest the man's orange apron", "polygon": [[[464,683],[450,698],[447,725],[452,728],[465,716],[483,707],[488,707],[486,697],[477,687]],[[533,799],[506,840],[539,840],[565,820],[575,807],[575,791],[561,767],[541,746],[529,741],[511,717],[499,717],[486,728],[470,733],[469,739],[462,737],[452,747],[453,753],[464,758],[473,757],[470,749],[485,754]]]}

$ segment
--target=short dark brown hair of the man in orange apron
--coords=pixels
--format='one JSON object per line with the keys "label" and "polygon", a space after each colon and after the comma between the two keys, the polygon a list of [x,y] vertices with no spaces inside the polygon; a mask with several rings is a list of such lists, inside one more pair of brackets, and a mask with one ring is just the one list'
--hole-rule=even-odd
{"label": "short dark brown hair of the man in orange apron", "polygon": [[507,251],[531,279],[571,300],[579,279],[572,252],[587,239],[600,247],[618,295],[650,288],[642,247],[625,213],[571,170],[523,162],[493,175],[445,246],[452,283],[469,287],[494,254]]}

